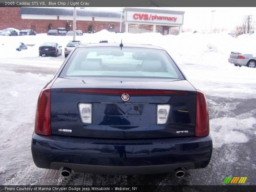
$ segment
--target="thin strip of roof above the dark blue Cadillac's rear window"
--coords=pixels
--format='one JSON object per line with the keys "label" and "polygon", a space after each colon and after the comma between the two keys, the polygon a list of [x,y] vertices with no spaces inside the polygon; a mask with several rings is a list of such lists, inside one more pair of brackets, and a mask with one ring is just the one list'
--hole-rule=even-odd
{"label": "thin strip of roof above the dark blue Cadillac's rear window", "polygon": [[[79,45],[77,48],[81,48],[81,47],[120,47],[120,44],[119,43],[92,43],[92,44],[82,44],[82,45]],[[123,44],[123,47],[164,50],[162,47],[153,46],[150,44]]]}

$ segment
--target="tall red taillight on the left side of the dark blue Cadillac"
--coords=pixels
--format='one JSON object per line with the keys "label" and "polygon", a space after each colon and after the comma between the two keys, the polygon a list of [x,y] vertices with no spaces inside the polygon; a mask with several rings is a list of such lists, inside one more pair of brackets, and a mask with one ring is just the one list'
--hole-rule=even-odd
{"label": "tall red taillight on the left side of the dark blue Cadillac", "polygon": [[35,133],[51,135],[51,88],[41,91],[36,108]]}

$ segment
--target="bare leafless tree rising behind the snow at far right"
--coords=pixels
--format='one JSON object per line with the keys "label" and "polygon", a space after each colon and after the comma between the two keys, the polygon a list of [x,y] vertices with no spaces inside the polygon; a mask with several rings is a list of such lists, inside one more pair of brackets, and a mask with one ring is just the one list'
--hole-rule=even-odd
{"label": "bare leafless tree rising behind the snow at far right", "polygon": [[248,15],[244,17],[242,20],[242,23],[238,26],[236,26],[236,36],[246,34],[246,33],[252,33],[252,29],[254,26],[254,21],[252,20],[251,16]]}

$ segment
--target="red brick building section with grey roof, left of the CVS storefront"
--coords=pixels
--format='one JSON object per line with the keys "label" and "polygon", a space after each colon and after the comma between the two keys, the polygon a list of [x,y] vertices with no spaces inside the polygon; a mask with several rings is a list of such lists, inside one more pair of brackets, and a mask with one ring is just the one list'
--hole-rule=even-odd
{"label": "red brick building section with grey roof, left of the CVS storefront", "polygon": [[[76,29],[87,33],[89,25],[93,30],[108,30],[108,25],[115,24],[114,32],[120,31],[120,12],[95,11],[77,9]],[[5,28],[33,29],[36,33],[47,33],[48,25],[52,28],[65,28],[69,21],[73,26],[73,9],[60,8],[34,8],[34,7],[0,7],[0,30]],[[122,31],[125,29],[122,19]]]}

